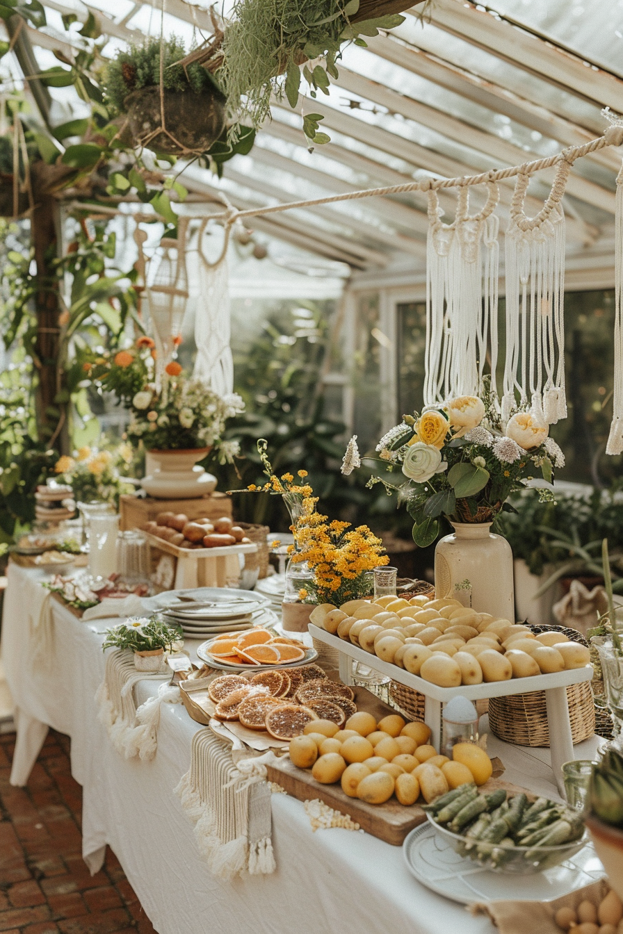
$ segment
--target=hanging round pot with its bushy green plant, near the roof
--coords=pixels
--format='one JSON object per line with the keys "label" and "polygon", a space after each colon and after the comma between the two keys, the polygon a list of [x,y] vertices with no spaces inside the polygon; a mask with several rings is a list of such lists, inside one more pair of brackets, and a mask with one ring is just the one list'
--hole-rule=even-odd
{"label": "hanging round pot with its bushy green plant, near the roof", "polygon": [[186,50],[173,35],[120,50],[106,65],[109,102],[126,114],[136,147],[202,155],[225,126],[225,97],[201,64],[179,64]]}

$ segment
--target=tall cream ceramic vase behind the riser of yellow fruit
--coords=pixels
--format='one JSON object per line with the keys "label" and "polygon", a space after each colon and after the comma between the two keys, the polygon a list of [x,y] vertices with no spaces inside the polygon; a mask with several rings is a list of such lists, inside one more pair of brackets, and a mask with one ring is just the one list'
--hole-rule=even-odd
{"label": "tall cream ceramic vase behind the riser of yellow fruit", "polygon": [[435,597],[453,597],[476,613],[515,622],[513,552],[490,522],[452,522],[435,548]]}

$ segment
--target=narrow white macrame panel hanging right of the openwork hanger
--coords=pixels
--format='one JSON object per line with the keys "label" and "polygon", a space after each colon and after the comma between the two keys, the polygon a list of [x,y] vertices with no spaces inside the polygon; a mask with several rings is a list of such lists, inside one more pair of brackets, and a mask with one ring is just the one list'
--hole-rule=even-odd
{"label": "narrow white macrame panel hanging right of the openwork hanger", "polygon": [[230,347],[230,299],[227,246],[231,225],[224,231],[219,259],[209,262],[205,255],[207,219],[199,228],[199,295],[194,322],[197,357],[194,375],[219,395],[234,391],[234,360]]}

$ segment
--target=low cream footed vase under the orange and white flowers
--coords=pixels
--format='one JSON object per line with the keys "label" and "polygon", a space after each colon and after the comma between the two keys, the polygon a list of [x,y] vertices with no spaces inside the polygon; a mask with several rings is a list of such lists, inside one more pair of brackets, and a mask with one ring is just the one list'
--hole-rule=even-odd
{"label": "low cream footed vase under the orange and white flowers", "polygon": [[156,466],[141,480],[142,488],[158,500],[191,500],[211,493],[217,486],[216,476],[195,466],[209,450],[149,451],[150,462]]}

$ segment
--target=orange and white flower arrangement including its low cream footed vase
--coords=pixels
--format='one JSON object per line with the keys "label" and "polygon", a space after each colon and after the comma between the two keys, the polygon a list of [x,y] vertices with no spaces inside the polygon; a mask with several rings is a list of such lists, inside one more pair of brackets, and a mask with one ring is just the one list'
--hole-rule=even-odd
{"label": "orange and white flower arrangement including its low cream footed vase", "polygon": [[154,354],[153,340],[143,336],[135,347],[114,355],[89,352],[83,368],[100,391],[115,393],[130,413],[128,439],[142,442],[157,462],[141,481],[149,496],[204,496],[217,480],[195,464],[214,449],[219,460],[234,459],[237,443],[223,441],[222,434],[226,420],[241,412],[244,403],[235,393],[221,397],[201,380],[184,375],[177,361],[166,364],[162,385],[157,386]]}

